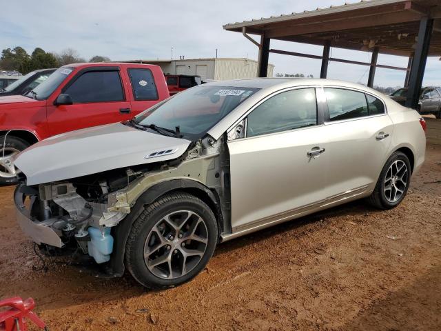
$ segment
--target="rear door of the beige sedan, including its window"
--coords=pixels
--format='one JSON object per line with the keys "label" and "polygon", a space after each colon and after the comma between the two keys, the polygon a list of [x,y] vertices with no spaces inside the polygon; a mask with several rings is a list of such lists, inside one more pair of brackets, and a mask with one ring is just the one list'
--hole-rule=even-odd
{"label": "rear door of the beige sedan, including its window", "polygon": [[362,193],[376,184],[386,161],[393,123],[384,103],[371,94],[346,88],[324,88],[327,181],[330,197]]}

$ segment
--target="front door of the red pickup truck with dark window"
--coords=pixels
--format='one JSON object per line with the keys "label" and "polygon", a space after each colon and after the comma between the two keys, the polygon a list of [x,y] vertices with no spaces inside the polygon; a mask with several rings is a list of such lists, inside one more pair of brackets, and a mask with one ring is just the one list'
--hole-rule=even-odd
{"label": "front door of the red pickup truck with dark window", "polygon": [[129,119],[130,109],[121,83],[119,67],[80,70],[61,90],[72,105],[48,105],[50,135]]}

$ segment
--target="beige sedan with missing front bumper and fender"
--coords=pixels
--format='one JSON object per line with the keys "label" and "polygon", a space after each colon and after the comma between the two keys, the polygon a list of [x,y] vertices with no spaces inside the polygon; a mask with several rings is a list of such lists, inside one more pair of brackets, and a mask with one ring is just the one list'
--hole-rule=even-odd
{"label": "beige sedan with missing front bumper and fender", "polygon": [[18,154],[17,220],[45,254],[169,288],[221,241],[355,199],[395,207],[424,130],[415,110],[352,83],[207,83]]}

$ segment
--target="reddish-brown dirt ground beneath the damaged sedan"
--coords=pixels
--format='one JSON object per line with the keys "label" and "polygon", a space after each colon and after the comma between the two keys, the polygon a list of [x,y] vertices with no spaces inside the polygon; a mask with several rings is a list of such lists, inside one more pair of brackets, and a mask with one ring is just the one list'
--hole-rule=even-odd
{"label": "reddish-brown dirt ground beneath the damaged sedan", "polygon": [[[150,292],[39,259],[0,188],[0,299],[33,297],[50,330],[441,330],[441,121],[398,208],[362,201],[220,244],[206,270]],[[138,310],[138,311],[137,311]]]}

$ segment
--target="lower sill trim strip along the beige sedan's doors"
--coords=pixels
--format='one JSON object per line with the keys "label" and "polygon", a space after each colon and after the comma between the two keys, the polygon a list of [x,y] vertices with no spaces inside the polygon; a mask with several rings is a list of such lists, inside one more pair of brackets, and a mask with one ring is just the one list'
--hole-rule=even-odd
{"label": "lower sill trim strip along the beige sedan's doors", "polygon": [[310,203],[308,205],[303,205],[302,207],[287,210],[286,212],[281,212],[280,214],[266,217],[265,219],[258,219],[251,223],[237,226],[232,229],[232,233],[221,234],[220,237],[222,238],[222,241],[227,241],[251,232],[268,228],[271,225],[290,221],[292,219],[304,216],[305,214],[310,214],[320,209],[329,208],[330,205],[333,205],[335,203],[358,197],[359,195],[367,192],[367,188],[369,188],[369,185],[363,185],[359,188],[354,188],[353,190],[348,190],[346,192],[327,197],[326,199]]}

